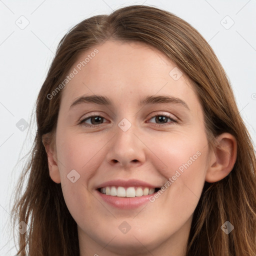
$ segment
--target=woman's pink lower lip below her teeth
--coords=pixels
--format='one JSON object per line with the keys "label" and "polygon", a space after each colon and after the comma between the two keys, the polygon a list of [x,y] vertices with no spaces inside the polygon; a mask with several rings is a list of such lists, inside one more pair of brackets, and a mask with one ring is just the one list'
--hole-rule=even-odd
{"label": "woman's pink lower lip below her teeth", "polygon": [[99,192],[98,190],[96,190],[96,191],[97,191],[97,193],[99,193],[99,195],[105,202],[107,202],[111,206],[114,206],[114,207],[120,208],[120,209],[138,208],[139,206],[145,204],[146,202],[149,202],[150,196],[154,196],[154,193],[152,193],[152,194],[148,194],[148,195],[135,196],[135,197],[118,197],[118,196],[103,194],[103,193]]}

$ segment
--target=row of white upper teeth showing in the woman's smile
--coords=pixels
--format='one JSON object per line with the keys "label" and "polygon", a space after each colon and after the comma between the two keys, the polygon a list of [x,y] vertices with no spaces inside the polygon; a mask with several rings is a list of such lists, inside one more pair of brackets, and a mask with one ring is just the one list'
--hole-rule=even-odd
{"label": "row of white upper teeth showing in the woman's smile", "polygon": [[130,186],[126,190],[123,186],[106,186],[100,189],[100,192],[106,195],[118,196],[118,197],[135,197],[154,193],[154,188],[148,187],[133,187]]}

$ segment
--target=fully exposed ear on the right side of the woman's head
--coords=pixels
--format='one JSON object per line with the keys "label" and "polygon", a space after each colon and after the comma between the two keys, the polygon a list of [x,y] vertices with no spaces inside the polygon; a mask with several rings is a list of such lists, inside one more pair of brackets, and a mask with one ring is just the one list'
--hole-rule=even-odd
{"label": "fully exposed ear on the right side of the woman's head", "polygon": [[205,181],[212,183],[227,176],[234,166],[236,153],[237,142],[233,135],[224,132],[217,136],[215,148],[210,152]]}

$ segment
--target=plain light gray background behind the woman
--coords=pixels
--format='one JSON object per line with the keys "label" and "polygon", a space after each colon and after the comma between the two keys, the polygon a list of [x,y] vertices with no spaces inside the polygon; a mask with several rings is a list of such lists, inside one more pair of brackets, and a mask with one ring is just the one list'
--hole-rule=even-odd
{"label": "plain light gray background behind the woman", "polygon": [[[30,116],[57,43],[82,19],[131,4],[164,8],[203,35],[229,77],[256,142],[256,0],[0,0],[0,255],[16,253],[8,225],[10,195],[23,163],[17,160],[32,144]],[[30,124],[23,131],[16,126],[21,118]]]}

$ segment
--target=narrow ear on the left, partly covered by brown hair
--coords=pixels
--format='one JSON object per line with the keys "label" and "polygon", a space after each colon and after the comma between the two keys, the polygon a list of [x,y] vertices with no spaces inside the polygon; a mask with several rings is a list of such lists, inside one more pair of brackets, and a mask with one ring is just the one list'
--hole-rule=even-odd
{"label": "narrow ear on the left, partly covered by brown hair", "polygon": [[54,182],[60,183],[60,173],[57,165],[56,149],[55,146],[52,146],[52,144],[55,144],[55,141],[53,141],[54,138],[55,136],[52,136],[49,133],[43,134],[42,143],[47,153],[49,175]]}

